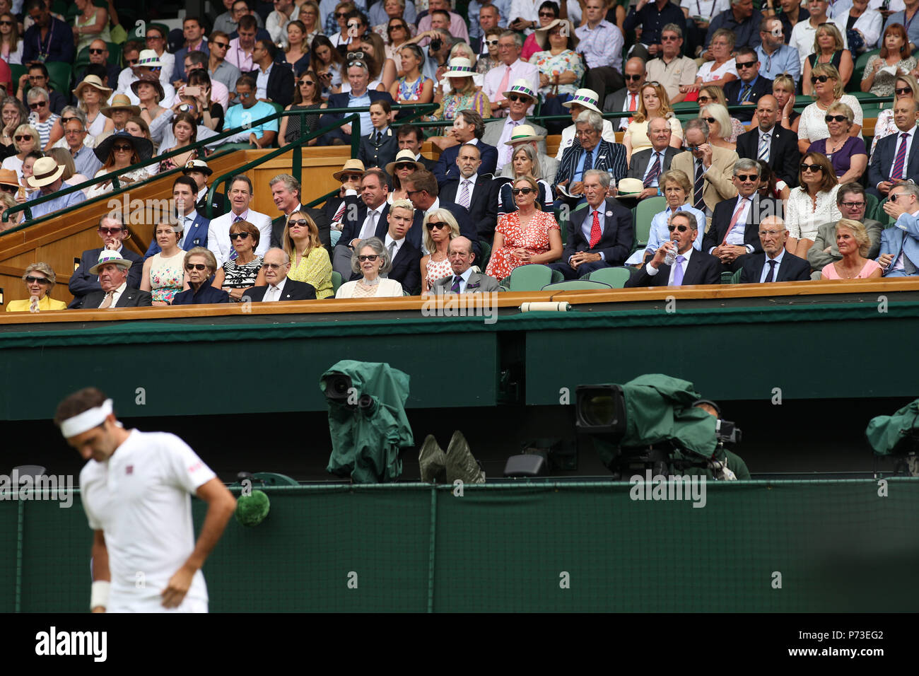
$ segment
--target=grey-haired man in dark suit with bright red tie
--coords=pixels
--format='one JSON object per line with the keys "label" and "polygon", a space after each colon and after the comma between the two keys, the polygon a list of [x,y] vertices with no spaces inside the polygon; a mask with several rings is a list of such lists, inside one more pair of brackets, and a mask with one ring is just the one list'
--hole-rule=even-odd
{"label": "grey-haired man in dark suit with bright red tie", "polygon": [[596,269],[622,265],[635,233],[630,210],[607,198],[609,175],[600,169],[584,172],[587,208],[572,212],[562,260],[550,263],[566,280],[576,280]]}

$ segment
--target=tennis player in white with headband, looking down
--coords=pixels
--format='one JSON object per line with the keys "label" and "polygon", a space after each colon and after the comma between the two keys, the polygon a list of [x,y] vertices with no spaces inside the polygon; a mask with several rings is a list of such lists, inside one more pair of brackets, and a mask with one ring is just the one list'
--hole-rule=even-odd
{"label": "tennis player in white with headband, looking down", "polygon": [[[185,441],[125,430],[95,387],[64,399],[54,423],[85,460],[80,495],[95,531],[94,613],[207,613],[201,567],[236,498]],[[198,541],[191,496],[208,503]]]}

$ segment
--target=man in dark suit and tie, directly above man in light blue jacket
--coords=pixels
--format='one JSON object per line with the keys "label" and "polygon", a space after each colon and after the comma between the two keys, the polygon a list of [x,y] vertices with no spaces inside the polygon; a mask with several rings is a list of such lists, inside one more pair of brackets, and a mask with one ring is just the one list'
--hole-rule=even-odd
{"label": "man in dark suit and tie, directly above man in light blue jacket", "polygon": [[919,180],[919,143],[916,143],[919,103],[911,97],[893,104],[897,132],[882,138],[871,154],[867,192],[883,200],[891,188],[904,180]]}

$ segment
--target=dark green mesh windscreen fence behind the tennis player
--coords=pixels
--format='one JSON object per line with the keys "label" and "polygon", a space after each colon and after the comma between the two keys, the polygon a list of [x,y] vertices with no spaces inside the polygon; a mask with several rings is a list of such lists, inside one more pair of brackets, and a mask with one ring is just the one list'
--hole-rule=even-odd
{"label": "dark green mesh windscreen fence behind the tennis player", "polygon": [[[205,567],[212,612],[919,607],[915,479],[709,482],[704,508],[611,482],[266,492]],[[90,539],[79,498],[0,502],[0,611],[85,612]]]}

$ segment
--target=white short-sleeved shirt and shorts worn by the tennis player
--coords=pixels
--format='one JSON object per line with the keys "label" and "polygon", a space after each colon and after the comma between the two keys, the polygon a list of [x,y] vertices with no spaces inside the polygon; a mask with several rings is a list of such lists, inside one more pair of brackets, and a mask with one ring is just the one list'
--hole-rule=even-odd
{"label": "white short-sleeved shirt and shorts worn by the tennis player", "polygon": [[[85,464],[83,508],[108,548],[108,612],[167,610],[160,594],[195,548],[190,494],[212,478],[198,454],[167,432],[130,430],[108,461]],[[178,610],[206,609],[207,602],[199,570]]]}

